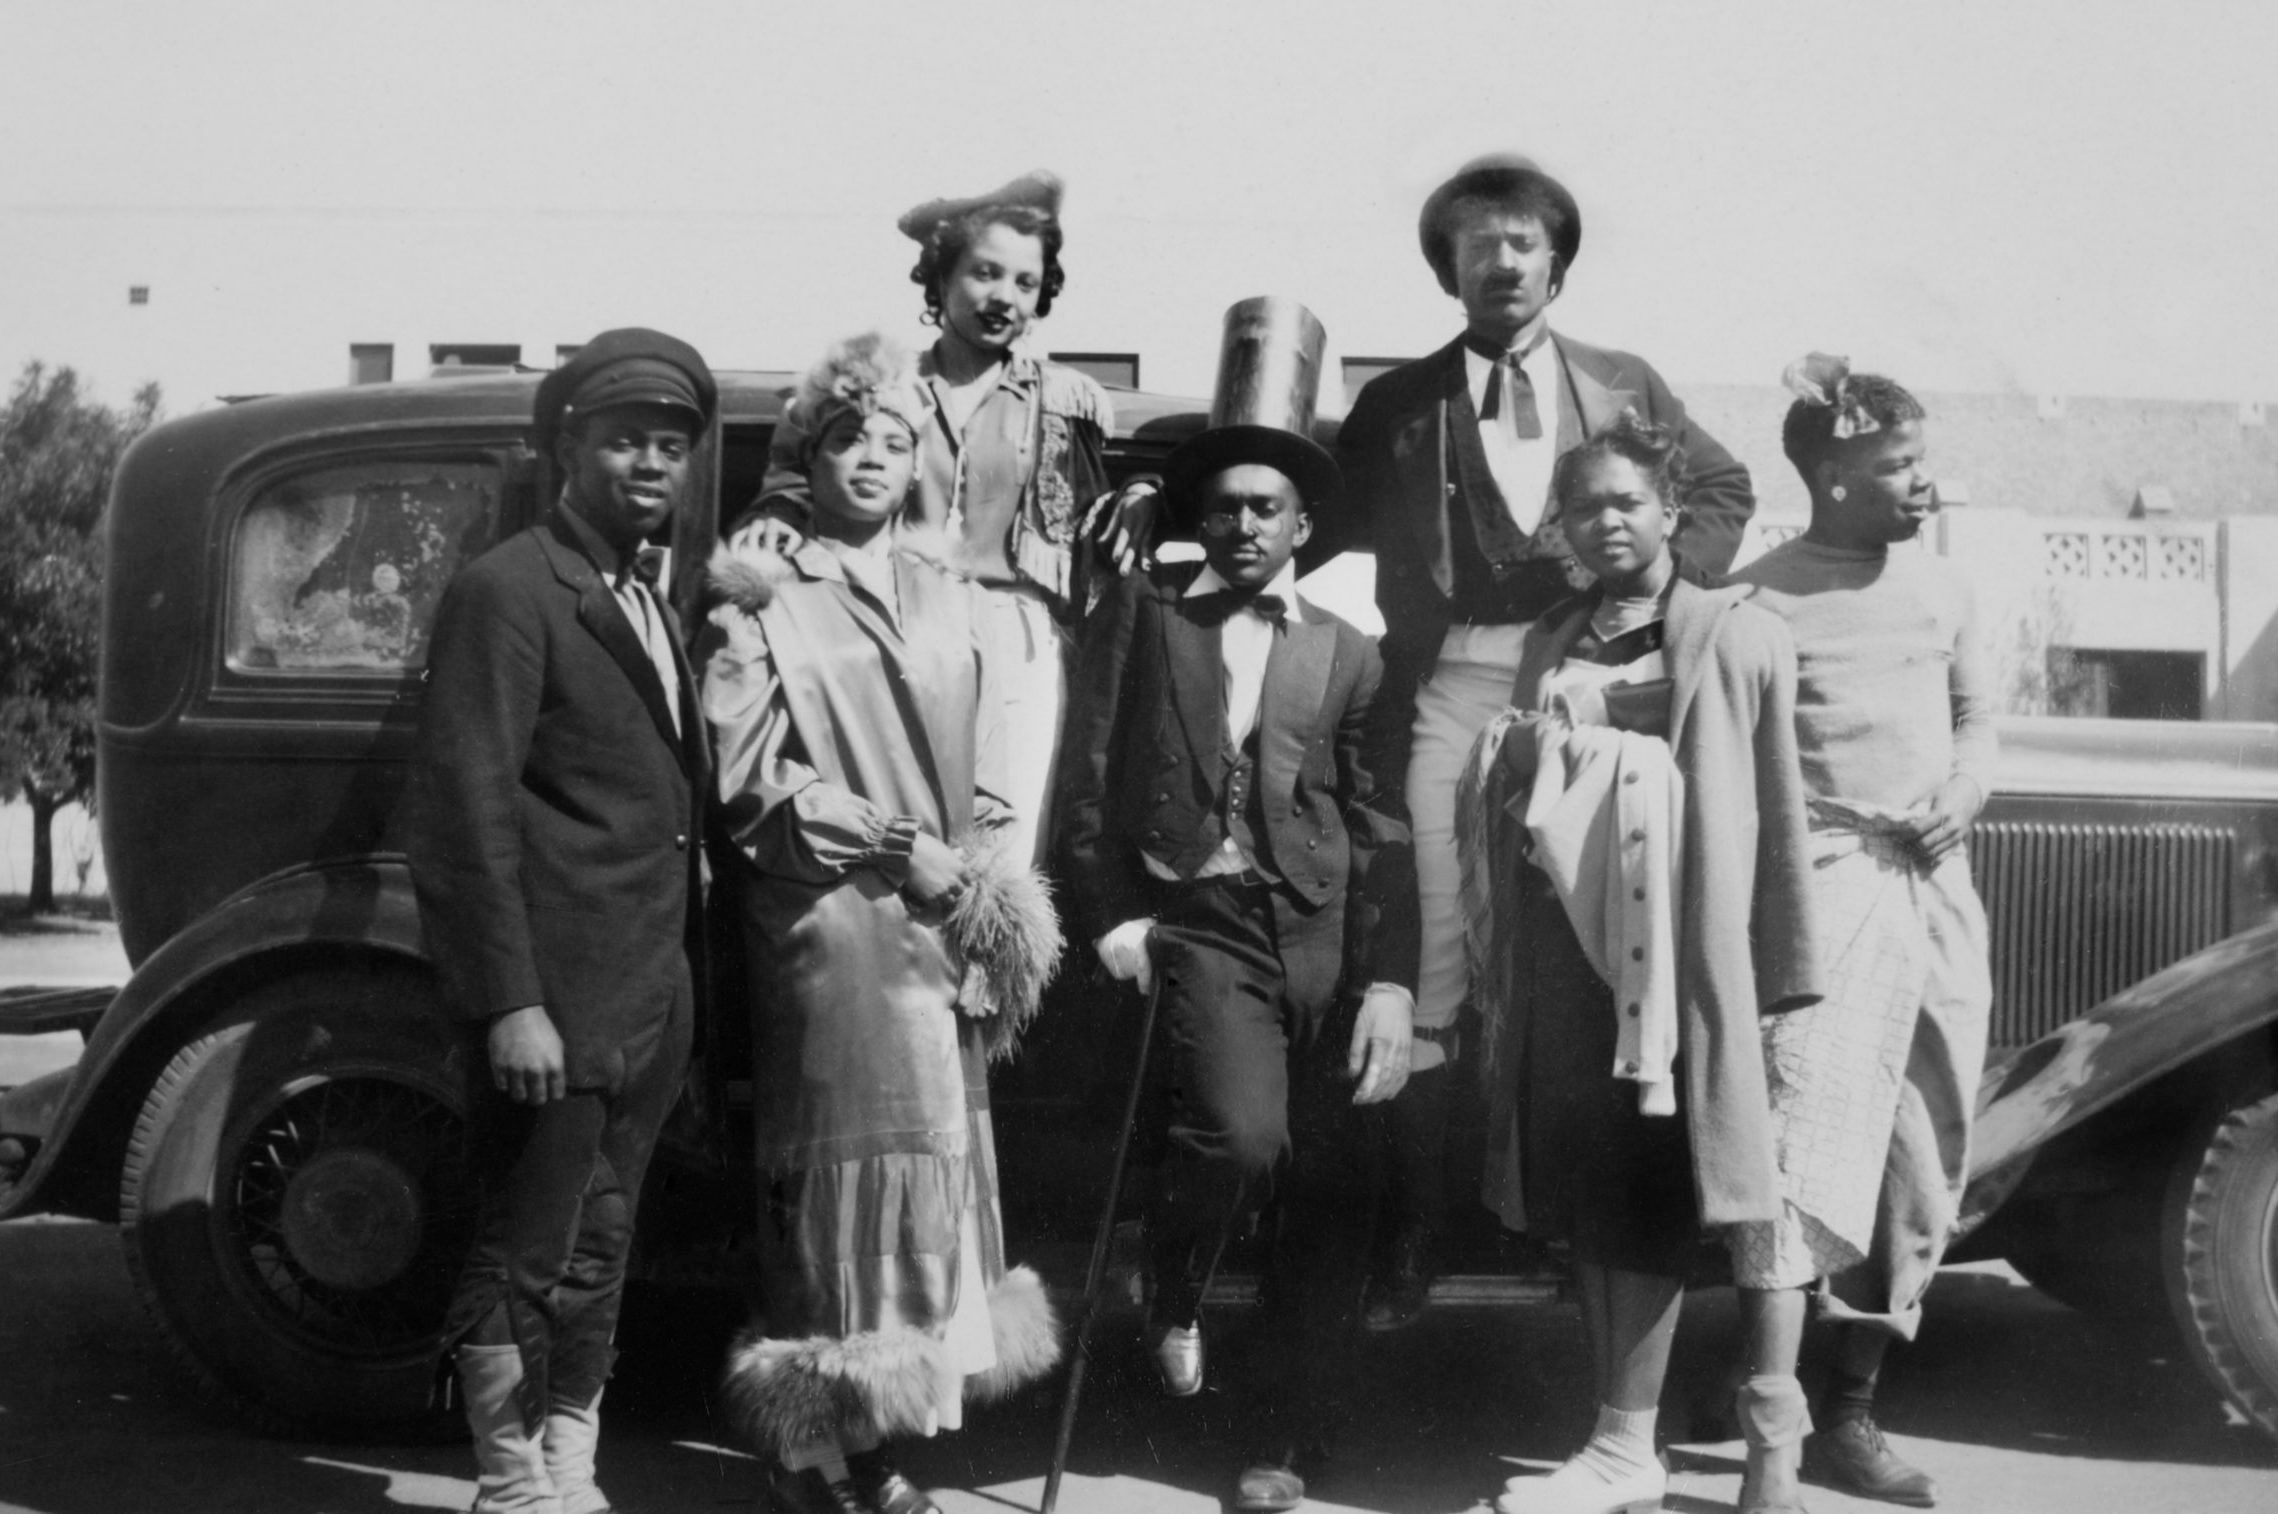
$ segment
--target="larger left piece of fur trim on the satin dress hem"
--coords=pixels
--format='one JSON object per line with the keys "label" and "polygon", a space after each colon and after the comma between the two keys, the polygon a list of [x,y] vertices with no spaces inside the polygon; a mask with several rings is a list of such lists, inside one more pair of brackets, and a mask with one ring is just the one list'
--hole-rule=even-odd
{"label": "larger left piece of fur trim on the satin dress hem", "polygon": [[850,1430],[879,1437],[929,1434],[934,1389],[948,1377],[941,1341],[923,1330],[870,1330],[854,1336],[736,1341],[720,1389],[729,1423],[770,1457]]}

